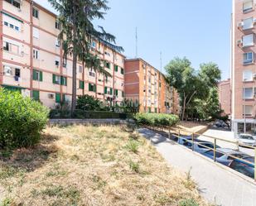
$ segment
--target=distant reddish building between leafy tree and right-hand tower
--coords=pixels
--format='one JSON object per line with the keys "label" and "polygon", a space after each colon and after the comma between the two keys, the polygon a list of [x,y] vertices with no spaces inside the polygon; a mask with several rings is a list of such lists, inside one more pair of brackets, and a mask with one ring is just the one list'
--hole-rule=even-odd
{"label": "distant reddish building between leafy tree and right-hand tower", "polygon": [[220,81],[218,84],[220,108],[224,115],[231,115],[231,85],[230,79]]}

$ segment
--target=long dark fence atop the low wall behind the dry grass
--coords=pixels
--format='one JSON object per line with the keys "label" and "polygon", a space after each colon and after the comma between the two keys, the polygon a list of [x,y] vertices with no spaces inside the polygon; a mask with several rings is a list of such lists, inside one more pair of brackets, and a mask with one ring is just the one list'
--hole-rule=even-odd
{"label": "long dark fence atop the low wall behind the dry grass", "polygon": [[103,111],[85,111],[76,109],[73,117],[71,117],[70,110],[58,110],[52,109],[50,112],[51,119],[127,119],[133,118],[131,113],[114,113],[114,112],[103,112]]}

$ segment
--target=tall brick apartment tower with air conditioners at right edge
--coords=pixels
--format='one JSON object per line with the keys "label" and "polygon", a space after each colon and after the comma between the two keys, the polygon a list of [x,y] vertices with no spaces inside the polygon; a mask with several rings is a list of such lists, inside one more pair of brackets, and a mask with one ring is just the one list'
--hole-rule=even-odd
{"label": "tall brick apartment tower with air conditioners at right edge", "polygon": [[232,130],[255,132],[256,2],[234,0],[231,26]]}

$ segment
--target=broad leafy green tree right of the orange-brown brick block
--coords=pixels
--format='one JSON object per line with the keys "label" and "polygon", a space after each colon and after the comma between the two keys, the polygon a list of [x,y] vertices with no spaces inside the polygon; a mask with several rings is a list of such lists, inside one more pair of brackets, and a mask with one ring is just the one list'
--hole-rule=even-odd
{"label": "broad leafy green tree right of the orange-brown brick block", "polygon": [[220,80],[220,69],[215,63],[201,64],[200,70],[191,67],[191,61],[186,57],[176,57],[165,67],[167,79],[180,95],[182,114],[186,117],[186,108],[193,110],[195,99],[206,100],[210,89],[216,87]]}

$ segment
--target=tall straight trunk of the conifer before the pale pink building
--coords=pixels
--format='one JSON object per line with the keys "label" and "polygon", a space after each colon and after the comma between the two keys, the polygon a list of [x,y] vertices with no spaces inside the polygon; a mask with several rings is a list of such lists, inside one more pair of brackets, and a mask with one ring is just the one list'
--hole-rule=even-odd
{"label": "tall straight trunk of the conifer before the pale pink building", "polygon": [[76,52],[76,41],[77,41],[77,27],[76,27],[76,7],[74,3],[73,13],[73,74],[72,74],[72,103],[71,103],[71,117],[74,117],[75,106],[76,106],[76,63],[77,63],[77,52]]}

